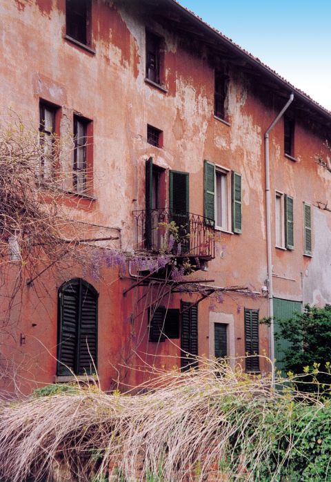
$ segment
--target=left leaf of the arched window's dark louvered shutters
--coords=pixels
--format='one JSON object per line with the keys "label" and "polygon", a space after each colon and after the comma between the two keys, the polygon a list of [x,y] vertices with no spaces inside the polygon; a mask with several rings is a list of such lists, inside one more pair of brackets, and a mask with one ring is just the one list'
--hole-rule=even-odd
{"label": "left leaf of the arched window's dark louvered shutters", "polygon": [[79,282],[68,283],[59,291],[59,340],[57,374],[75,372],[77,346],[77,314],[79,310]]}

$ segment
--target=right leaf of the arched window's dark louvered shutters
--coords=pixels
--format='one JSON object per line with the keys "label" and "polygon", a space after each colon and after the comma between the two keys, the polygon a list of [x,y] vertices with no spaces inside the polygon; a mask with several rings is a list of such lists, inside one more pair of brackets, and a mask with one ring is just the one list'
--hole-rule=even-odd
{"label": "right leaf of the arched window's dark louvered shutters", "polygon": [[79,345],[77,346],[77,373],[79,375],[90,375],[95,372],[97,367],[97,300],[97,291],[86,282],[82,282]]}

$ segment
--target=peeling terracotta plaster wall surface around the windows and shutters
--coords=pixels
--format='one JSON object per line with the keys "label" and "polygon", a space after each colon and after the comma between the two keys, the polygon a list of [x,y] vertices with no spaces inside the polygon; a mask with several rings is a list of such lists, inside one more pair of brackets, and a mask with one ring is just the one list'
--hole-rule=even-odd
{"label": "peeling terracotta plaster wall surface around the windows and shutters", "polygon": [[[8,108],[35,128],[39,122],[39,99],[61,107],[61,135],[72,129],[75,112],[92,119],[94,131],[94,195],[88,209],[72,209],[72,215],[121,229],[124,249],[135,249],[133,209],[145,208],[145,164],[190,173],[190,211],[203,215],[203,160],[210,160],[242,175],[243,233],[215,232],[216,258],[209,271],[192,277],[214,279],[217,286],[239,285],[260,291],[265,285],[266,240],[264,206],[263,133],[285,100],[260,90],[255,81],[229,66],[228,111],[230,126],[214,118],[214,70],[208,49],[179,38],[171,25],[161,26],[143,13],[138,2],[92,0],[92,48],[95,54],[64,39],[64,0],[5,0],[0,5],[1,115]],[[150,86],[145,78],[145,28],[165,39],[164,82],[167,93]],[[14,32],[14,33],[13,33]],[[163,148],[146,141],[147,124],[163,131]],[[317,132],[319,128],[315,129]],[[316,206],[328,200],[330,173],[314,162],[324,151],[323,136],[313,132],[307,119],[296,125],[295,153],[298,162],[283,154],[283,123],[270,135],[272,202],[277,189],[294,197],[294,251],[274,248],[272,256],[275,295],[291,300],[323,304],[331,301],[330,267],[325,252],[330,250],[331,217],[313,209],[314,256],[303,256],[302,202]],[[168,176],[166,192],[168,193]],[[272,206],[274,213],[274,206]],[[272,220],[274,231],[274,219]],[[126,363],[179,365],[178,341],[167,340],[159,347],[147,343],[146,314],[132,325],[132,313],[143,288],[123,298],[129,280],[120,280],[117,270],[105,272],[106,282],[84,276],[99,291],[99,375],[104,389],[121,381],[133,385],[147,375],[128,373]],[[23,391],[37,380],[50,383],[56,366],[57,288],[76,276],[74,267],[61,279],[43,278],[48,293],[26,288],[19,326],[12,329],[8,352],[25,374]],[[287,279],[290,278],[290,279]],[[321,283],[323,278],[323,283]],[[194,301],[196,295],[172,296],[170,307],[179,300]],[[210,354],[210,326],[217,314],[233,320],[232,352],[243,356],[244,308],[268,315],[262,296],[239,293],[224,296],[223,302],[204,300],[199,305],[199,353]],[[216,317],[216,318],[215,318]],[[226,318],[226,319],[230,319]],[[224,318],[219,318],[224,319]],[[32,322],[37,326],[32,327]],[[19,337],[26,345],[19,346]],[[145,334],[145,336],[142,336]],[[137,340],[139,346],[137,347]],[[174,341],[174,343],[172,343]],[[127,358],[130,347],[137,354]],[[268,328],[260,328],[260,353],[268,354]],[[19,353],[19,354],[17,354]],[[9,356],[8,355],[8,356]],[[161,358],[160,358],[161,355]],[[168,356],[168,358],[163,358]],[[173,358],[172,358],[173,357]],[[117,367],[117,369],[115,368]],[[261,363],[261,371],[268,365]],[[32,382],[30,382],[30,378]]]}

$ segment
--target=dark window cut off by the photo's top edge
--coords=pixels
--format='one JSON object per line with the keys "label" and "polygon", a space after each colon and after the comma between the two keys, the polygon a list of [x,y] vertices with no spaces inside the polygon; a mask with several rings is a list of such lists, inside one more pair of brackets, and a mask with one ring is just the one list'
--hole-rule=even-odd
{"label": "dark window cut off by the photo's top edge", "polygon": [[81,44],[91,43],[91,0],[66,0],[66,34]]}

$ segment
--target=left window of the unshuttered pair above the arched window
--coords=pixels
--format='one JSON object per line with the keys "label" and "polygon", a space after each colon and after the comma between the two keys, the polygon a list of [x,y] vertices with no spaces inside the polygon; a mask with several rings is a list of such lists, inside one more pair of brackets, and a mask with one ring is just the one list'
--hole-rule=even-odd
{"label": "left window of the unshuttered pair above the arched window", "polygon": [[55,115],[58,108],[45,102],[39,103],[39,139],[42,146],[39,177],[52,180],[54,176]]}

